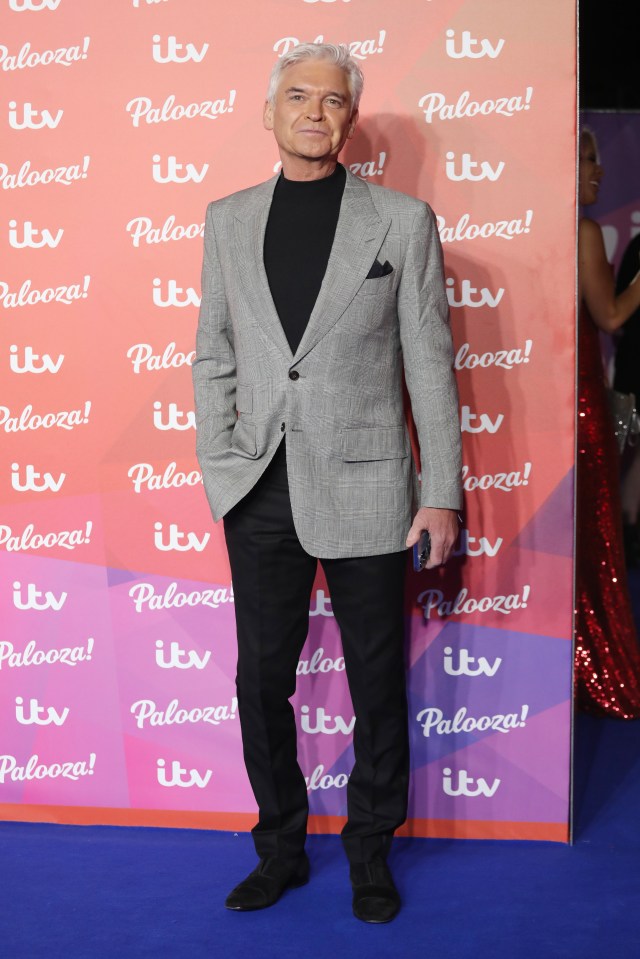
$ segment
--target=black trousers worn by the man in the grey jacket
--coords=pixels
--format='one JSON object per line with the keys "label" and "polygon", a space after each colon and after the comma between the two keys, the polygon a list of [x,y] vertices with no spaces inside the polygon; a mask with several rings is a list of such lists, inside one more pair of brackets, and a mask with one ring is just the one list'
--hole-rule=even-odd
{"label": "black trousers worn by the man in the grey jacket", "polygon": [[[251,492],[224,518],[238,633],[244,760],[259,809],[260,858],[297,856],[307,787],[289,702],[307,637],[318,560],[293,525],[283,441]],[[409,743],[404,668],[406,554],[322,559],[353,702],[355,765],[342,840],[351,862],[386,857],[407,814]]]}

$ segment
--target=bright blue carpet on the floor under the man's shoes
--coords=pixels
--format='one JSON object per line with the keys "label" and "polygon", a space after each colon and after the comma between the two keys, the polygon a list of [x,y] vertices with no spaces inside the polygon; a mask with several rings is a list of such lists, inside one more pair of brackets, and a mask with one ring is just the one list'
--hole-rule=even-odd
{"label": "bright blue carpet on the floor under the man's shoes", "polygon": [[397,840],[404,900],[351,915],[339,839],[309,839],[312,881],[272,909],[222,902],[248,835],[0,824],[2,959],[637,959],[640,722],[579,717],[575,845]]}

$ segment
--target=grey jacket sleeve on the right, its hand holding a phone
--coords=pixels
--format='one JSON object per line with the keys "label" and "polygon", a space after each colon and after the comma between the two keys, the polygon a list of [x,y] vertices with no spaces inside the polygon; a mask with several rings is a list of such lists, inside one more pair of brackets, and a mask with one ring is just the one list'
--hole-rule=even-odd
{"label": "grey jacket sleeve on the right, its hand holding a phone", "polygon": [[458,391],[444,285],[442,247],[433,211],[420,204],[398,287],[405,379],[418,431],[420,505],[462,505]]}

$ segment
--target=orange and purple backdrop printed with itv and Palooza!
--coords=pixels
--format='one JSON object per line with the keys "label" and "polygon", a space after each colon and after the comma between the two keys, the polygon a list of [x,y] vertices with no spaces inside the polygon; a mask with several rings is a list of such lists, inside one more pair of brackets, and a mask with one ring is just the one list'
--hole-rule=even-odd
{"label": "orange and purple backdrop printed with itv and Palooza!", "polygon": [[[345,164],[427,200],[464,440],[455,559],[407,583],[414,835],[568,837],[575,4],[2,0],[0,816],[249,828],[233,584],[195,459],[209,200],[278,170],[275,59],[345,42]],[[318,574],[312,828],[354,726]]]}

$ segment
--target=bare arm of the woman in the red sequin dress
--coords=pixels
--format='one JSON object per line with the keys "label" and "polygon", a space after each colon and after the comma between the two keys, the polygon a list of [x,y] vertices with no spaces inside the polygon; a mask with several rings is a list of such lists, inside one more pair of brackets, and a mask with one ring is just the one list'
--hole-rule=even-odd
{"label": "bare arm of the woman in the red sequin dress", "polygon": [[640,282],[636,272],[629,286],[615,295],[613,272],[602,238],[602,230],[594,220],[582,219],[578,224],[578,281],[580,297],[587,305],[593,322],[613,333],[640,307]]}

